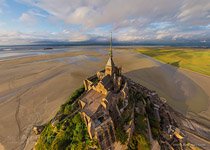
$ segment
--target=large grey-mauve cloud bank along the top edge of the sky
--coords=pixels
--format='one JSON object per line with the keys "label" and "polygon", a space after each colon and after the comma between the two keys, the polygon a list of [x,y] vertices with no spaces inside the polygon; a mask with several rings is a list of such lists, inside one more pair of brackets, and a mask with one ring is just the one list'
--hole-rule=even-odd
{"label": "large grey-mauve cloud bank along the top edge of the sky", "polygon": [[[151,22],[209,22],[209,0],[23,0],[70,24],[96,27],[104,24]],[[128,22],[127,22],[128,23]]]}

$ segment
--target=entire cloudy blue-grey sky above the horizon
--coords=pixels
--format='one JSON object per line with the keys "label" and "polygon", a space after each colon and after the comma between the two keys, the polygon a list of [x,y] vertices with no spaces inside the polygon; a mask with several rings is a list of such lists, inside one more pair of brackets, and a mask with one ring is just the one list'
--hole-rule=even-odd
{"label": "entire cloudy blue-grey sky above the horizon", "polygon": [[0,0],[0,45],[210,43],[210,0]]}

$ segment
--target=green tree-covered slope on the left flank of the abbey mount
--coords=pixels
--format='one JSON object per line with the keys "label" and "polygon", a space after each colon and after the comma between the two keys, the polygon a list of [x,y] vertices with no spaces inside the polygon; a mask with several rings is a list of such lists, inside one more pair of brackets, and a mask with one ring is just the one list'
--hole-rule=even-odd
{"label": "green tree-covered slope on the left flank of the abbey mount", "polygon": [[80,114],[74,114],[79,107],[76,100],[83,92],[84,87],[77,89],[61,106],[58,112],[59,117],[57,117],[59,122],[55,126],[48,123],[36,143],[36,150],[74,150],[97,147],[97,142],[89,138]]}

